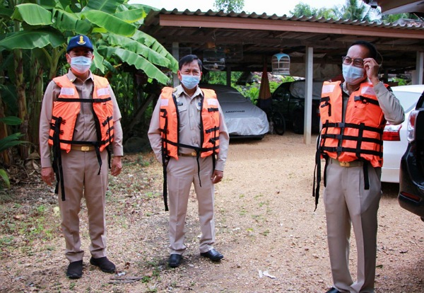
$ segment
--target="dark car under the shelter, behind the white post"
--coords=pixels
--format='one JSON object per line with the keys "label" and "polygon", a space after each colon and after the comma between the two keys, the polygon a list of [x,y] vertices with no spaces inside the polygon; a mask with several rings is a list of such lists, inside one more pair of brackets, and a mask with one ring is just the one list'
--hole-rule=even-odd
{"label": "dark car under the shelter, behind the white post", "polygon": [[[319,102],[322,81],[312,83],[312,132],[319,132]],[[285,82],[278,86],[272,95],[274,113],[281,113],[285,125],[293,132],[302,134],[305,113],[305,80]]]}

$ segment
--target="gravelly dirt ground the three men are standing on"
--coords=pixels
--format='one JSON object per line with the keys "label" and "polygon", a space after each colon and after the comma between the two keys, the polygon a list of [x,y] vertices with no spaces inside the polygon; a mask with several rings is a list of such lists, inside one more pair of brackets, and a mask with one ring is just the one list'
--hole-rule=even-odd
{"label": "gravelly dirt ground the three men are standing on", "polygon": [[[216,185],[215,247],[225,258],[211,263],[199,256],[192,190],[188,249],[171,269],[161,167],[152,154],[126,155],[107,193],[108,257],[118,273],[89,264],[83,207],[79,280],[65,276],[57,197],[37,172],[28,173],[1,193],[0,292],[326,292],[332,280],[325,214],[322,200],[314,212],[313,171],[314,144],[304,144],[302,135],[232,141],[224,180]],[[376,292],[424,292],[424,223],[399,207],[398,188],[382,186]],[[354,236],[351,244],[355,278]]]}

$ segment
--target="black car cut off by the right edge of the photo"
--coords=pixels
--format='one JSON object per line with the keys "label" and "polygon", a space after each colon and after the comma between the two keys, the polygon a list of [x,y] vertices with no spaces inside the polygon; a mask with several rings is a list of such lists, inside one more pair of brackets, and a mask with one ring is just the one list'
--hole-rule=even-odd
{"label": "black car cut off by the right edge of the photo", "polygon": [[409,115],[407,137],[399,171],[399,205],[424,221],[424,92]]}

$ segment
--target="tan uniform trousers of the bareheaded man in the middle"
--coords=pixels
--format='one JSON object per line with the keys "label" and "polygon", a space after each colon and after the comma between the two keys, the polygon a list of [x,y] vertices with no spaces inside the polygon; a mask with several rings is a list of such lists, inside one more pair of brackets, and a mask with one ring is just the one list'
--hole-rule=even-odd
{"label": "tan uniform trousers of the bareheaded man in the middle", "polygon": [[195,156],[179,156],[178,160],[170,159],[167,165],[170,254],[182,254],[187,248],[184,245],[184,223],[192,183],[199,205],[201,229],[199,249],[201,253],[204,253],[213,248],[212,244],[215,242],[213,194],[215,189],[211,180],[212,164],[211,156],[199,158],[200,182]]}

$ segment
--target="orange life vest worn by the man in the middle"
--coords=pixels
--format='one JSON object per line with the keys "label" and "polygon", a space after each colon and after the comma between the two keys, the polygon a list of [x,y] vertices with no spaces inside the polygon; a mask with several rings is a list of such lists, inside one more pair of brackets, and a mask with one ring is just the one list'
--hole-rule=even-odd
{"label": "orange life vest worn by the man in the middle", "polygon": [[219,111],[216,93],[203,89],[201,100],[201,147],[179,143],[179,116],[173,88],[165,87],[161,94],[160,130],[162,132],[163,155],[178,159],[178,146],[194,149],[202,158],[219,152]]}

